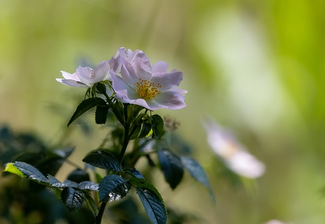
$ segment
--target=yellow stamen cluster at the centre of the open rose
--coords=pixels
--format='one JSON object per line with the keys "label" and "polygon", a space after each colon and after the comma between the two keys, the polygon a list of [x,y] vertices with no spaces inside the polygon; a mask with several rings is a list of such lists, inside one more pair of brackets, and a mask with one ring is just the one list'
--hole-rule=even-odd
{"label": "yellow stamen cluster at the centre of the open rose", "polygon": [[135,83],[135,90],[139,93],[142,99],[151,99],[158,95],[161,91],[158,89],[161,85],[158,83],[155,85],[152,80],[142,80],[139,79],[139,82]]}

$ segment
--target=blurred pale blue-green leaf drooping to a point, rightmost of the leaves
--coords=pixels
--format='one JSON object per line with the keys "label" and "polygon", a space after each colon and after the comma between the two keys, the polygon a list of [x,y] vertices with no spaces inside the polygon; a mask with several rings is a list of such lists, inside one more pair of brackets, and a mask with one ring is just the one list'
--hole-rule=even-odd
{"label": "blurred pale blue-green leaf drooping to a point, rightmost of the leaves", "polygon": [[187,157],[187,156],[182,156],[181,161],[182,161],[182,164],[184,165],[184,167],[186,168],[186,170],[189,172],[189,174],[195,180],[199,181],[207,188],[207,190],[210,193],[210,198],[214,202],[214,200],[215,200],[214,194],[213,194],[213,190],[211,188],[208,176],[205,173],[202,166],[200,165],[200,163],[198,161],[194,160],[193,158]]}

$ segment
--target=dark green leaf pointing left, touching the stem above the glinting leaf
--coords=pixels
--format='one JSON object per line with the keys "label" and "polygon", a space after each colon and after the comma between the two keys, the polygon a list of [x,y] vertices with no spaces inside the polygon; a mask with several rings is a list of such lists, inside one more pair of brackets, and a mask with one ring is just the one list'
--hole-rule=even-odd
{"label": "dark green leaf pointing left, touching the stem above the glinting leaf", "polygon": [[117,159],[104,150],[94,151],[83,158],[82,161],[101,169],[121,171]]}

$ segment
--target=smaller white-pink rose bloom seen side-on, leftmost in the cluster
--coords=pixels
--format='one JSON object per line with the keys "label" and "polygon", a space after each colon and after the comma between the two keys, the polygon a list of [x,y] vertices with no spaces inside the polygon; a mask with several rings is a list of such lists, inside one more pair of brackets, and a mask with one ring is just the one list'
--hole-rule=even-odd
{"label": "smaller white-pink rose bloom seen side-on, leftmost in the cluster", "polygon": [[91,88],[95,83],[109,80],[109,71],[109,63],[107,61],[102,61],[95,69],[79,66],[73,74],[61,71],[64,79],[56,79],[56,81],[67,86]]}

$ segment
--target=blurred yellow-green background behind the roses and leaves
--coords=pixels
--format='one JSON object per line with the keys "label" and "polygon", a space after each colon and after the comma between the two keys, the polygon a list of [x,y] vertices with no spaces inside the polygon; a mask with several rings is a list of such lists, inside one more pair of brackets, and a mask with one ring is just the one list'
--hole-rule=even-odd
{"label": "blurred yellow-green background behind the roses and leaves", "polygon": [[[216,196],[189,175],[166,203],[206,223],[247,224],[280,219],[325,222],[325,2],[231,1],[22,1],[0,0],[0,124],[32,131],[50,144],[76,145],[72,160],[98,146],[66,131],[85,89],[55,81],[60,70],[96,65],[119,47],[141,49],[151,63],[183,71],[187,107],[157,113],[176,118],[178,133],[203,164]],[[256,181],[234,186],[217,172],[202,126],[213,117],[233,130],[266,164]],[[63,167],[61,175],[72,169]],[[154,173],[158,178],[160,174]],[[159,181],[158,181],[159,182]]]}

